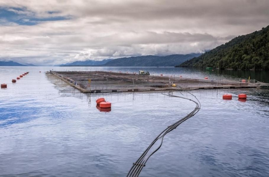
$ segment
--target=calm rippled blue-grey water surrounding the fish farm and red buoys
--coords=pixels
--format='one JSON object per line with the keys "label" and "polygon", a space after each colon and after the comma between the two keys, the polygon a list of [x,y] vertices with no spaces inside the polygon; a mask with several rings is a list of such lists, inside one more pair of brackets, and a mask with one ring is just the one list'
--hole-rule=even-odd
{"label": "calm rippled blue-grey water surrounding the fish farm and red buoys", "polygon": [[[137,72],[136,67],[0,67],[0,176],[126,176],[152,140],[195,104],[161,92],[82,94],[46,71]],[[268,72],[142,68],[191,78]],[[12,84],[11,80],[29,71]],[[39,73],[41,71],[41,73]],[[195,90],[201,110],[168,133],[140,176],[269,176],[269,90]],[[223,94],[232,100],[223,100]],[[247,101],[237,100],[246,93]],[[179,92],[174,94],[181,95]],[[185,97],[192,98],[186,92]],[[100,112],[95,100],[112,103]]]}

